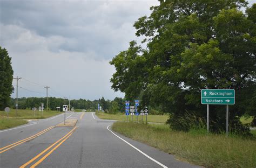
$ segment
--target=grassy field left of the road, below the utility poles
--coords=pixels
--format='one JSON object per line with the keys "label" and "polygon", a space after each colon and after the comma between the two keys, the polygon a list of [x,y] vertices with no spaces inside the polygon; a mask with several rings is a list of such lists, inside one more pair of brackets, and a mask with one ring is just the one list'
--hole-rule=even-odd
{"label": "grassy field left of the road, below the utility poles", "polygon": [[[43,111],[43,116],[41,111],[36,111],[36,116],[32,110],[18,110],[18,115],[16,116],[16,109],[11,109],[9,112],[9,119],[5,111],[0,111],[0,130],[12,127],[17,127],[18,125],[23,125],[28,123],[28,119],[41,119],[62,114],[59,111]],[[26,119],[26,120],[25,120]]]}

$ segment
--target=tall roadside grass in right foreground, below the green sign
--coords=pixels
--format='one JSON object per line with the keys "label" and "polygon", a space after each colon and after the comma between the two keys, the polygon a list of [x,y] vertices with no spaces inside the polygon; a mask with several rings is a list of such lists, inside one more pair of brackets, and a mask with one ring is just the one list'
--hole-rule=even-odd
{"label": "tall roadside grass in right foreground, below the green sign", "polygon": [[[179,160],[205,167],[256,167],[256,138],[208,134],[206,130],[177,132],[164,124],[116,122],[112,129]],[[252,133],[255,135],[256,131]]]}

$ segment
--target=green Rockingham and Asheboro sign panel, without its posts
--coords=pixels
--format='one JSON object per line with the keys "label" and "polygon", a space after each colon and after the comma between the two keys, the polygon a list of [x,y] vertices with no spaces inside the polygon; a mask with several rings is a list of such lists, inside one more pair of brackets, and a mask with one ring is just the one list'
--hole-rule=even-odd
{"label": "green Rockingham and Asheboro sign panel, without its posts", "polygon": [[234,104],[234,89],[201,89],[201,104]]}

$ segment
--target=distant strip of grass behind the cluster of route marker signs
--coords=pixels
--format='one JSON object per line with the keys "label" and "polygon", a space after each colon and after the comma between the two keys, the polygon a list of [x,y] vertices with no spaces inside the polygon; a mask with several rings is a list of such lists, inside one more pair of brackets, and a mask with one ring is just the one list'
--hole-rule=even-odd
{"label": "distant strip of grass behind the cluster of route marker signs", "polygon": [[[121,120],[126,121],[126,115],[123,113],[117,113],[117,114],[108,114],[108,113],[102,113],[97,112],[96,115],[100,119],[106,119],[106,120]],[[168,119],[168,115],[149,115],[147,116],[147,122],[157,122],[157,123],[165,123]],[[131,121],[131,116],[129,115],[128,120]],[[142,120],[142,116],[138,116],[138,121]],[[136,116],[133,116],[133,121],[137,121]],[[146,121],[146,117],[143,117],[143,121]]]}

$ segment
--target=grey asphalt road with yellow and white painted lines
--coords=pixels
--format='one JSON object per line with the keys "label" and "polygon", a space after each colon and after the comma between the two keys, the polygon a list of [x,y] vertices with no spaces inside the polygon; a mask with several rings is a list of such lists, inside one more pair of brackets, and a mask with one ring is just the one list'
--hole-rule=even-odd
{"label": "grey asphalt road with yellow and white painted lines", "polygon": [[76,127],[56,127],[64,115],[0,130],[0,167],[198,167],[111,130],[95,113],[66,113]]}

